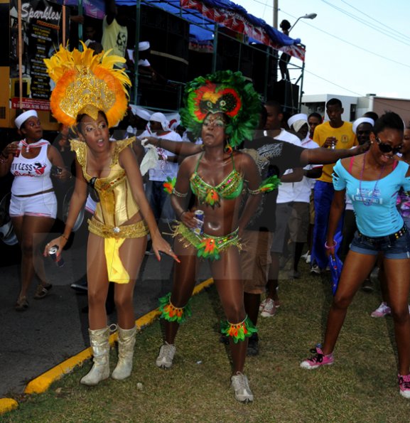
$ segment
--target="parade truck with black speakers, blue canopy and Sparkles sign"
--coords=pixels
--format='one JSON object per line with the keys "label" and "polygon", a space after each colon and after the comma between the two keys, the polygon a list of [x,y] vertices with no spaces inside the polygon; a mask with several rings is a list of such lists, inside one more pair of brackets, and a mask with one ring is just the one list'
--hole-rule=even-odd
{"label": "parade truck with black speakers, blue canopy and Sparkles sign", "polygon": [[[261,100],[278,100],[288,112],[298,111],[303,83],[304,47],[297,40],[248,14],[241,6],[216,0],[116,0],[128,16],[127,73],[131,78],[130,102],[151,110],[176,111],[185,83],[215,70],[240,70],[254,83]],[[43,129],[57,130],[50,113],[53,84],[44,58],[60,44],[70,48],[77,39],[70,14],[92,18],[99,28],[104,0],[0,0],[0,129],[14,128],[18,109],[36,109]],[[71,22],[71,28],[70,28]],[[71,31],[70,31],[71,29]],[[101,31],[99,31],[101,33]],[[68,40],[69,34],[72,39]],[[85,40],[82,40],[85,41]],[[161,77],[139,74],[142,52],[135,48],[149,41],[153,70]],[[81,48],[81,47],[80,47]],[[296,83],[277,80],[281,52],[301,60]],[[300,72],[299,72],[300,71]]]}

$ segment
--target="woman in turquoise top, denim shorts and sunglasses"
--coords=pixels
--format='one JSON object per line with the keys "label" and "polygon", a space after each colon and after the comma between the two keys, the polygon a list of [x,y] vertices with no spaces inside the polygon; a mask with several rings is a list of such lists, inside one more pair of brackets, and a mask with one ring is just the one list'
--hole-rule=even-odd
{"label": "woman in turquoise top, denim shorts and sunglasses", "polygon": [[345,193],[352,199],[357,232],[350,245],[340,275],[338,290],[328,315],[323,348],[301,363],[315,369],[333,364],[333,350],[338,341],[347,308],[357,289],[382,255],[387,289],[394,321],[394,335],[399,358],[400,394],[410,399],[410,235],[396,209],[399,189],[410,189],[409,165],[396,161],[394,155],[403,142],[404,124],[399,115],[388,112],[374,124],[369,151],[354,161],[342,159],[334,168],[335,198],[330,209],[327,241],[328,255],[335,254],[333,240],[336,226],[345,208]]}

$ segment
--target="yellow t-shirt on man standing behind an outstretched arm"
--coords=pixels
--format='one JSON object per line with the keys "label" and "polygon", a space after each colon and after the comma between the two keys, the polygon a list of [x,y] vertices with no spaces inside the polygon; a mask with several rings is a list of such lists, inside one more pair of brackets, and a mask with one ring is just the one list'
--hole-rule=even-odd
{"label": "yellow t-shirt on man standing behind an outstretched arm", "polygon": [[[315,127],[313,141],[317,142],[320,147],[325,144],[328,136],[335,136],[335,138],[338,139],[338,143],[335,146],[335,149],[338,150],[351,149],[352,146],[357,146],[358,144],[350,122],[343,122],[340,128],[330,127],[329,122],[325,122]],[[335,163],[325,164],[323,166],[322,176],[318,178],[318,181],[332,183],[333,166],[335,166]]]}

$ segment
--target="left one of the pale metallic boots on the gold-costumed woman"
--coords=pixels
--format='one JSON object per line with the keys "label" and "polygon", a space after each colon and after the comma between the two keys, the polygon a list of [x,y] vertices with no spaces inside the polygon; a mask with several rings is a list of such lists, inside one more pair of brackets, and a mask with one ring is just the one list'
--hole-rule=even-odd
{"label": "left one of the pale metallic boots on the gold-costumed woman", "polygon": [[94,355],[92,369],[80,380],[82,385],[95,386],[109,378],[109,328],[95,329],[90,333],[90,343]]}

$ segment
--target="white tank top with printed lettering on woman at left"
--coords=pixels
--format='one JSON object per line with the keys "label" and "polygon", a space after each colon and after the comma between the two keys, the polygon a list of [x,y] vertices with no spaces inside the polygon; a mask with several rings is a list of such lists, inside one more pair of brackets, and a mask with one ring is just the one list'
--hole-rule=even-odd
{"label": "white tank top with printed lettering on woman at left", "polygon": [[40,153],[36,157],[26,159],[20,153],[18,157],[14,157],[11,163],[10,171],[14,175],[11,193],[15,196],[27,196],[53,188],[53,183],[50,179],[52,164],[47,157],[50,143],[45,141],[45,139],[40,141],[47,144],[41,146]]}

